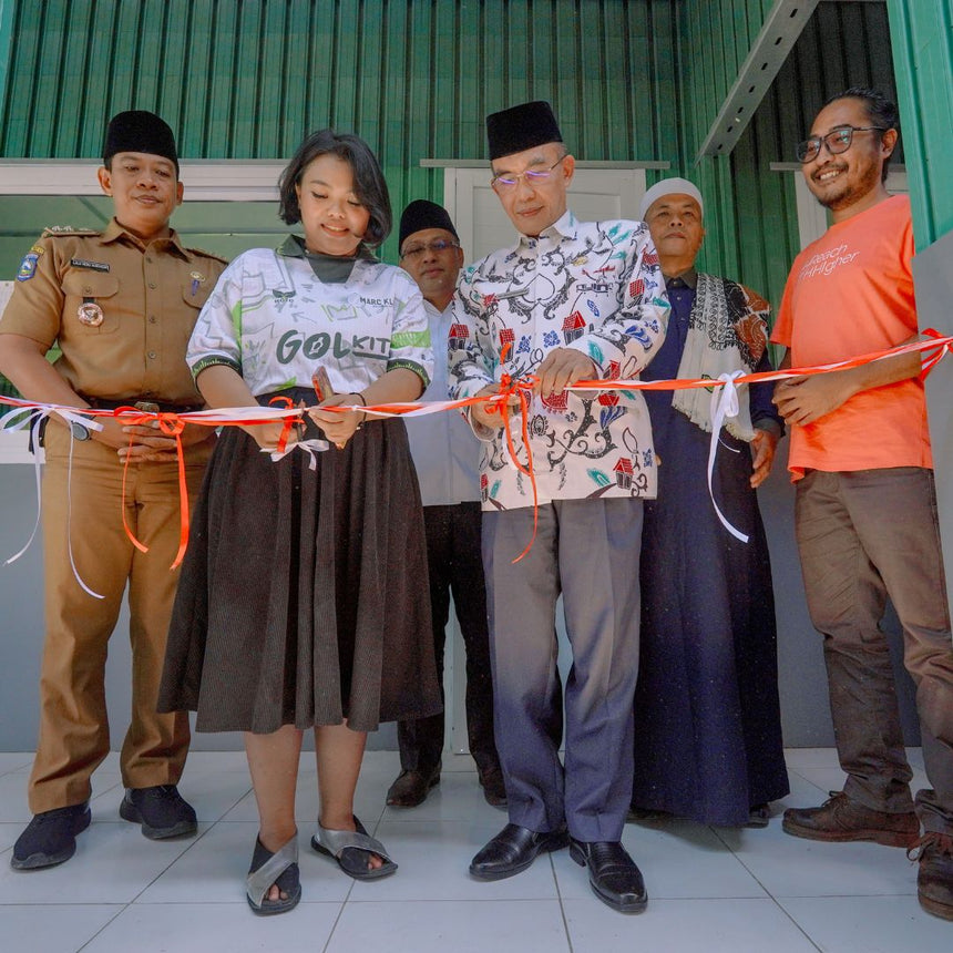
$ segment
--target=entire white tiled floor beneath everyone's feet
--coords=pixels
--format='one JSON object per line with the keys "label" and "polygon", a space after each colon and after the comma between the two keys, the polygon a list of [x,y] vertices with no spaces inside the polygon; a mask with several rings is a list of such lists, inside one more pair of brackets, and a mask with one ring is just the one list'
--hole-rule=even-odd
{"label": "entire white tiled floor beneath everyone's feet", "polygon": [[[148,841],[119,818],[114,752],[93,775],[93,824],[76,855],[47,871],[12,871],[13,841],[30,819],[32,755],[0,755],[0,949],[41,953],[164,950],[307,950],[402,953],[535,950],[664,953],[934,953],[953,949],[951,924],[916,903],[916,868],[902,850],[832,844],[781,831],[786,807],[821,803],[843,775],[830,748],[786,752],[791,793],[766,829],[711,829],[688,821],[627,823],[623,841],[642,868],[648,910],[625,916],[593,894],[567,851],[525,872],[484,883],[473,854],[505,823],[476,783],[472,759],[447,756],[441,783],[419,808],[386,808],[400,770],[396,751],[365,757],[355,809],[399,863],[377,882],[356,882],[309,846],[318,809],[314,755],[301,756],[296,813],[304,900],[284,916],[258,918],[244,879],[257,810],[243,751],[193,752],[181,785],[198,811],[194,839]],[[913,786],[925,783],[909,749]],[[10,947],[9,937],[29,936]],[[570,946],[572,943],[572,946]]]}

